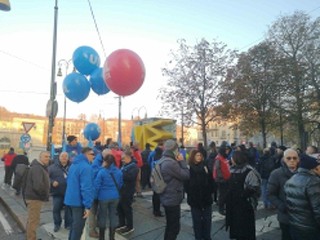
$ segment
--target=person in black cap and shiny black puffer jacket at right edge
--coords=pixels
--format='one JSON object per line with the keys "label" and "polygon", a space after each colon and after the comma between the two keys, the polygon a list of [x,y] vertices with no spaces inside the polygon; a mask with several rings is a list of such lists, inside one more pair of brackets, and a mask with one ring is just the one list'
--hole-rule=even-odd
{"label": "person in black cap and shiny black puffer jacket at right edge", "polygon": [[320,240],[320,162],[300,157],[297,174],[284,186],[293,240]]}

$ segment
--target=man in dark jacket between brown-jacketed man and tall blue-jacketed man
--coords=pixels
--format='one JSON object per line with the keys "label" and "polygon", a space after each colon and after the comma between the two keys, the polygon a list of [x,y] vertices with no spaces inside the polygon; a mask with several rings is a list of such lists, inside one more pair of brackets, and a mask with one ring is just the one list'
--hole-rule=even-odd
{"label": "man in dark jacket between brown-jacketed man and tall blue-jacketed man", "polygon": [[69,170],[69,154],[67,152],[62,152],[59,155],[59,162],[54,163],[49,166],[49,178],[50,178],[50,192],[52,195],[52,213],[53,213],[53,223],[54,232],[58,232],[61,223],[61,211],[64,208],[64,227],[66,229],[70,228],[71,224],[71,211],[70,208],[63,204],[64,195],[67,188],[67,175]]}

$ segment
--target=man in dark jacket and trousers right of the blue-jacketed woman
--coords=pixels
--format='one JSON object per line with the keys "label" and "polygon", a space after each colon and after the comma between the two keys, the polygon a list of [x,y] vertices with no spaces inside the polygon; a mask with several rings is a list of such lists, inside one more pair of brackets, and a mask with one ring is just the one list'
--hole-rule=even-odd
{"label": "man in dark jacket and trousers right of the blue-jacketed woman", "polygon": [[122,163],[123,185],[120,189],[120,200],[117,208],[119,225],[116,227],[116,231],[120,234],[127,235],[134,231],[132,202],[139,172],[136,161],[131,157],[131,149],[129,146],[123,149]]}

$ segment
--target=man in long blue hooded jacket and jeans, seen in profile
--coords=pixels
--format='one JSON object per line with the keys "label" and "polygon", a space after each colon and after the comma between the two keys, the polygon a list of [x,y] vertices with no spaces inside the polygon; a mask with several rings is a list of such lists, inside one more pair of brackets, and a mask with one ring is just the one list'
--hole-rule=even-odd
{"label": "man in long blue hooded jacket and jeans, seen in profile", "polygon": [[65,205],[71,208],[71,228],[69,240],[80,240],[83,228],[93,202],[93,171],[91,162],[94,152],[84,147],[82,153],[74,158],[67,177]]}

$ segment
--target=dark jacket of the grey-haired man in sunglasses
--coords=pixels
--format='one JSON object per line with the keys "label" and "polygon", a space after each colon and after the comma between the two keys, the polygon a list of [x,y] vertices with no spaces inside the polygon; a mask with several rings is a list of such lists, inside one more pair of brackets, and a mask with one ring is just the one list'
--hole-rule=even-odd
{"label": "dark jacket of the grey-haired man in sunglasses", "polygon": [[284,224],[289,224],[284,184],[293,174],[282,161],[281,167],[271,172],[267,185],[268,199],[277,208],[278,221]]}

